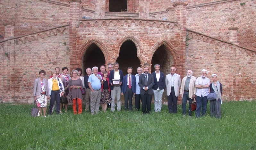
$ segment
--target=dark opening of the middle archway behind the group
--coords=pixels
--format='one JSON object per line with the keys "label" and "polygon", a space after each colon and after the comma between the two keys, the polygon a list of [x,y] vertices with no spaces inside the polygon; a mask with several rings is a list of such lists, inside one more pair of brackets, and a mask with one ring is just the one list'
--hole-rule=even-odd
{"label": "dark opening of the middle archway behind the group", "polygon": [[137,68],[141,66],[141,62],[137,57],[137,48],[131,40],[125,41],[120,47],[119,57],[116,62],[119,63],[119,69],[127,74],[127,68],[132,67],[132,75],[137,74]]}

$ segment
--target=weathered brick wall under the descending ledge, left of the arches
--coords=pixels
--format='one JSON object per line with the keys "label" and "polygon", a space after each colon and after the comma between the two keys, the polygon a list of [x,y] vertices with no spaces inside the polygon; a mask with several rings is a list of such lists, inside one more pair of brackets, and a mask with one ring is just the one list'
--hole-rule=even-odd
{"label": "weathered brick wall under the descending ledge, left of the arches", "polygon": [[[15,45],[12,44],[11,47],[8,46],[9,41],[1,43],[3,44],[0,46],[1,52],[9,54],[8,58],[1,55],[3,61],[0,61],[0,95],[4,101],[18,99],[18,101],[32,102],[33,84],[34,80],[39,77],[40,70],[46,71],[45,78],[48,79],[50,72],[55,67],[58,66],[62,69],[66,66],[69,68],[68,28],[64,27],[58,31],[55,29],[39,34],[41,36],[35,34],[19,38],[21,40],[12,40],[11,43],[15,42]],[[63,44],[64,42],[66,45]]]}

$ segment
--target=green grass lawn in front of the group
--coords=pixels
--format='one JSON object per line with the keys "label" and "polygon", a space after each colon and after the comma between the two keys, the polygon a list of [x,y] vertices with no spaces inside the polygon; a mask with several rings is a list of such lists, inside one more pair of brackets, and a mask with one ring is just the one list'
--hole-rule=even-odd
{"label": "green grass lawn in front of the group", "polygon": [[[162,112],[83,112],[31,117],[33,105],[0,104],[0,150],[256,149],[256,101],[226,102],[222,119]],[[188,107],[188,105],[187,105]],[[153,110],[153,104],[152,104]]]}

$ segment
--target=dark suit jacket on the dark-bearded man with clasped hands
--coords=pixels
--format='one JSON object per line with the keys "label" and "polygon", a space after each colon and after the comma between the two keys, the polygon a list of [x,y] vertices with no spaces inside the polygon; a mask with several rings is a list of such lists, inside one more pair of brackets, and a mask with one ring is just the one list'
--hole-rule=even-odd
{"label": "dark suit jacket on the dark-bearded man with clasped hands", "polygon": [[153,95],[153,90],[152,87],[154,85],[154,77],[152,74],[148,73],[148,84],[145,84],[145,74],[141,74],[140,78],[139,78],[139,86],[141,87],[141,95],[145,94],[145,90],[143,89],[143,87],[149,87],[148,89],[148,94],[149,95]]}

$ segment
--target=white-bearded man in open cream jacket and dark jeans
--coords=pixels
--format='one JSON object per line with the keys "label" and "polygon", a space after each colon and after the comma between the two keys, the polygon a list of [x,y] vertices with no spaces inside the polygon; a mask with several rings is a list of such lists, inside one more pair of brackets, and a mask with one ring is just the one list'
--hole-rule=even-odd
{"label": "white-bearded man in open cream jacket and dark jeans", "polygon": [[192,76],[193,71],[188,70],[187,71],[187,76],[182,79],[181,82],[181,88],[180,88],[180,96],[182,98],[182,113],[183,116],[187,114],[186,112],[186,104],[187,101],[189,103],[188,107],[188,115],[191,117],[191,103],[192,103],[192,98],[196,97],[196,88],[195,88],[195,82],[196,82],[196,77]]}

